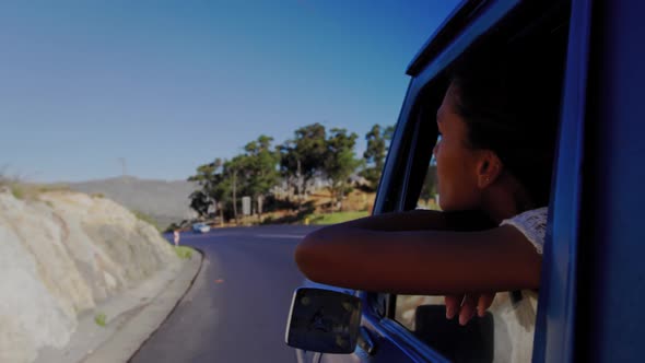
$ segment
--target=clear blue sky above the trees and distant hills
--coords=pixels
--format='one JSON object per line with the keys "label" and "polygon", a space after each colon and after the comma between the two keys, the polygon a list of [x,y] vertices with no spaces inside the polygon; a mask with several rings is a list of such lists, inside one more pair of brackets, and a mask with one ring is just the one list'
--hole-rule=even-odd
{"label": "clear blue sky above the trees and distant hills", "polygon": [[394,125],[457,0],[0,2],[0,172],[185,179],[260,134]]}

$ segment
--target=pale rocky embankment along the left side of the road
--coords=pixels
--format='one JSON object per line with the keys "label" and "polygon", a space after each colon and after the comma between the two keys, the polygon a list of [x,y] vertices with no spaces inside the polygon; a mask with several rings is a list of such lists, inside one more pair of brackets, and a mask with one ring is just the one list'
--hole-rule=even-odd
{"label": "pale rocky embankment along the left side of the road", "polygon": [[69,343],[79,317],[180,260],[150,224],[98,197],[0,188],[0,362]]}

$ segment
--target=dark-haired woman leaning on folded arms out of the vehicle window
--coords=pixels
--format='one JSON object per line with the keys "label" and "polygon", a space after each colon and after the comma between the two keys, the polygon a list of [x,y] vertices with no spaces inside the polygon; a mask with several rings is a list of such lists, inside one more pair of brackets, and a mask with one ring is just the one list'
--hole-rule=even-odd
{"label": "dark-haired woman leaning on folded arms out of the vehicle window", "polygon": [[[356,290],[446,295],[446,316],[462,325],[483,315],[495,292],[537,290],[560,95],[559,66],[548,61],[468,56],[436,115],[443,212],[317,230],[296,248],[302,272]],[[478,214],[492,224],[473,223]]]}

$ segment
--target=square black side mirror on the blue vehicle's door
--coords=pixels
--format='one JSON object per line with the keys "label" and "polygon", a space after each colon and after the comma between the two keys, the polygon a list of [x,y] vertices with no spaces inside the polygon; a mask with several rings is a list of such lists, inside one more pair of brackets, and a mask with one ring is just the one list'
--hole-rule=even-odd
{"label": "square black side mirror on the blue vehicle's door", "polygon": [[341,292],[298,288],[293,293],[286,344],[306,351],[349,354],[356,348],[361,300]]}

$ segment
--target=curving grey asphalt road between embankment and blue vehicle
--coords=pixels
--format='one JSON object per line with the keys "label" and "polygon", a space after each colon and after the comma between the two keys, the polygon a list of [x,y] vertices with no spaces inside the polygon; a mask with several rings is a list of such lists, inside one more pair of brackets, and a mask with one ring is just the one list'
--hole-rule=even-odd
{"label": "curving grey asphalt road between embankment and blue vehicle", "polygon": [[131,362],[295,362],[284,344],[297,242],[315,227],[261,226],[186,233],[202,270],[175,312]]}

